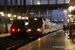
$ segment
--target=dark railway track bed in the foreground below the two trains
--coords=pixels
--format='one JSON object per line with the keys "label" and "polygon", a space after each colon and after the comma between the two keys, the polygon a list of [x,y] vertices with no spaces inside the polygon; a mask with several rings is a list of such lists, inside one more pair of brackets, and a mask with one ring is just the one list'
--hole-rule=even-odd
{"label": "dark railway track bed in the foreground below the two trains", "polygon": [[34,40],[30,40],[29,38],[13,39],[11,36],[3,37],[3,38],[0,38],[0,50],[10,50],[10,49],[17,50],[19,47],[22,47]]}

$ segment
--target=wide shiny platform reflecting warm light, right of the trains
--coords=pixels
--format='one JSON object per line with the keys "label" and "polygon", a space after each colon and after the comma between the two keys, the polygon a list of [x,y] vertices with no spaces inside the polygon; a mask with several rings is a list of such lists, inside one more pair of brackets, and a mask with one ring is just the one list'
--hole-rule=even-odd
{"label": "wide shiny platform reflecting warm light, right of the trains", "polygon": [[39,38],[17,50],[75,50],[75,44],[63,30]]}

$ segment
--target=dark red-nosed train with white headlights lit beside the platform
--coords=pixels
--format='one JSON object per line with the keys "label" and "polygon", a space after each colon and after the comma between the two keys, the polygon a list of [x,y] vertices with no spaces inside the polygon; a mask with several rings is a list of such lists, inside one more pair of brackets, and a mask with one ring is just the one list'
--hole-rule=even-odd
{"label": "dark red-nosed train with white headlights lit beside the platform", "polygon": [[59,29],[59,25],[45,18],[30,18],[27,25],[27,35],[30,39],[38,38],[44,34]]}

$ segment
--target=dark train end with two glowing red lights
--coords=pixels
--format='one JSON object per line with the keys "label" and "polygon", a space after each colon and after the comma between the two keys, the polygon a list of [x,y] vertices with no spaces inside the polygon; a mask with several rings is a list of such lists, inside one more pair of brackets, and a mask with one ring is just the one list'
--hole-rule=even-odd
{"label": "dark train end with two glowing red lights", "polygon": [[10,28],[10,33],[12,37],[27,37],[27,32],[26,32],[26,26],[27,23],[25,20],[14,20],[11,28]]}

